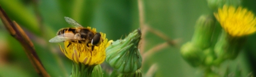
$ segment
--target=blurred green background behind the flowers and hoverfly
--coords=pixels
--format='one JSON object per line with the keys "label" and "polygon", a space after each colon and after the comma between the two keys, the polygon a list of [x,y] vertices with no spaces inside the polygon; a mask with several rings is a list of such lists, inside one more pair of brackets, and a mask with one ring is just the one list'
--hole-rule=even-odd
{"label": "blurred green background behind the flowers and hoverfly", "polygon": [[[211,14],[207,0],[143,0],[145,23],[172,39],[181,39],[177,47],[169,46],[149,57],[143,64],[143,73],[157,63],[155,77],[198,77],[201,68],[189,66],[180,56],[179,46],[191,40],[195,21],[202,14]],[[242,6],[256,13],[255,0],[243,0]],[[58,43],[49,43],[61,28],[72,27],[64,17],[71,17],[82,26],[91,26],[107,34],[109,40],[118,40],[139,28],[137,0],[0,0],[8,16],[29,35],[36,52],[52,77],[67,77],[72,63],[65,57]],[[41,20],[37,19],[41,17]],[[165,40],[148,32],[145,51]],[[225,61],[220,67],[239,66],[242,76],[256,68],[256,34],[250,35],[236,60]],[[60,43],[63,44],[63,43]],[[106,64],[106,63],[104,63]],[[103,69],[104,70],[104,69]],[[223,71],[226,69],[224,68]],[[220,71],[221,72],[221,71]],[[10,36],[0,22],[0,77],[39,77],[20,43]]]}

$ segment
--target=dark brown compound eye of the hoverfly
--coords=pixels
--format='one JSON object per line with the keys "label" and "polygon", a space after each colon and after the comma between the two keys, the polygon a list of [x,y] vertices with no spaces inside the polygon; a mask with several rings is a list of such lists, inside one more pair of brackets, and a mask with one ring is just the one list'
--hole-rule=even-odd
{"label": "dark brown compound eye of the hoverfly", "polygon": [[99,46],[102,43],[102,37],[101,34],[99,34],[98,32],[94,35],[93,39],[92,39],[92,45],[93,46]]}

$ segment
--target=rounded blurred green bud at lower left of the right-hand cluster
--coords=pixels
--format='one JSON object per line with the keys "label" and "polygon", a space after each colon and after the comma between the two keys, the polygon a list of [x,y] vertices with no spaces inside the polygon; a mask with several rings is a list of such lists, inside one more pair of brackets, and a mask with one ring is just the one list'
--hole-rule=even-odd
{"label": "rounded blurred green bud at lower left of the right-hand cluster", "polygon": [[183,59],[194,67],[201,65],[204,60],[204,53],[202,49],[191,42],[181,46],[180,53]]}

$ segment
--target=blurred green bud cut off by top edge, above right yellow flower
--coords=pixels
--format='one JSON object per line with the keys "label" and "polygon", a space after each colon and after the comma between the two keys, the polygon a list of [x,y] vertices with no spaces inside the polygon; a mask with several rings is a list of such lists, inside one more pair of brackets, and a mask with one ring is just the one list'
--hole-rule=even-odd
{"label": "blurred green bud cut off by top edge, above right yellow flower", "polygon": [[241,5],[241,0],[207,0],[207,3],[210,9],[217,10],[218,8],[222,8],[225,4],[239,6]]}

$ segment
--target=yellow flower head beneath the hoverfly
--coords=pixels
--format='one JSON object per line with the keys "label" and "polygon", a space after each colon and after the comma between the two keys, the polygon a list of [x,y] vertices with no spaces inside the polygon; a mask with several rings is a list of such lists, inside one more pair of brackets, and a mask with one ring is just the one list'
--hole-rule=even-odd
{"label": "yellow flower head beneath the hoverfly", "polygon": [[[91,29],[90,27],[88,27]],[[96,32],[96,29],[92,29]],[[105,49],[109,45],[108,39],[106,39],[106,34],[100,32],[103,42],[99,46],[94,46],[92,50],[92,45],[89,43],[87,47],[86,43],[73,43],[70,41],[65,41],[65,48],[61,48],[61,51],[70,59],[76,63],[84,63],[85,65],[97,65],[104,62],[106,53]]]}

